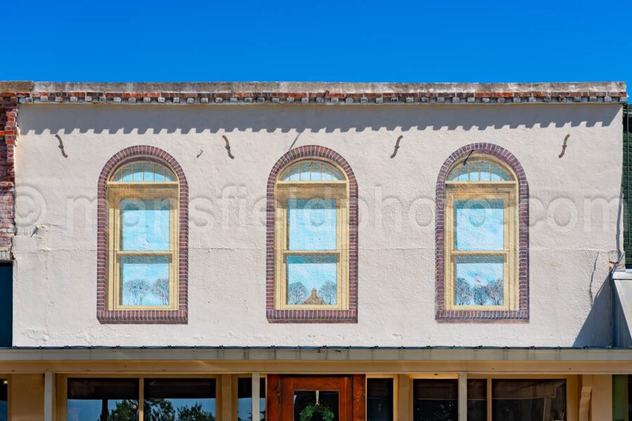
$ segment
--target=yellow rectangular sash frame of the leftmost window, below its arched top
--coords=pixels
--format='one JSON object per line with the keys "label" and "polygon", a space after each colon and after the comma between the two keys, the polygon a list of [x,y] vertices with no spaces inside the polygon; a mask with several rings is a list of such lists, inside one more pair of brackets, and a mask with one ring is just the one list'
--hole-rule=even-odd
{"label": "yellow rectangular sash frame of the leftmost window, below its arched top", "polygon": [[[109,182],[107,185],[107,309],[177,310],[179,293],[178,256],[180,253],[180,185],[178,182]],[[121,250],[121,201],[169,201],[169,250]],[[124,256],[169,258],[169,305],[122,305],[121,258]]]}

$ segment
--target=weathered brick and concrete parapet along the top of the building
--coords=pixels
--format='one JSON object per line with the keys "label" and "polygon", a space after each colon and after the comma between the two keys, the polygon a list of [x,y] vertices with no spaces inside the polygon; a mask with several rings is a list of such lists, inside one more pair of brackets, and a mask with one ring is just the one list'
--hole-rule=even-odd
{"label": "weathered brick and concrete parapet along the top of the building", "polygon": [[14,102],[118,104],[518,104],[626,102],[625,82],[577,83],[100,83],[0,81]]}

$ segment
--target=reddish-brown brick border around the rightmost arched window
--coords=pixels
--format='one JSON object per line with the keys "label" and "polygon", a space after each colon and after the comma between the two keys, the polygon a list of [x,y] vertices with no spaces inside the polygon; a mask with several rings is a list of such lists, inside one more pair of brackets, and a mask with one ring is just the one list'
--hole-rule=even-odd
{"label": "reddish-brown brick border around the rightmost arched window", "polygon": [[[445,229],[445,180],[456,161],[474,152],[493,156],[511,168],[518,181],[518,309],[507,311],[491,310],[445,310],[444,297],[444,229]],[[435,218],[435,319],[461,321],[487,321],[493,319],[529,319],[529,185],[520,161],[507,149],[492,143],[472,143],[454,151],[445,160],[437,177]]]}

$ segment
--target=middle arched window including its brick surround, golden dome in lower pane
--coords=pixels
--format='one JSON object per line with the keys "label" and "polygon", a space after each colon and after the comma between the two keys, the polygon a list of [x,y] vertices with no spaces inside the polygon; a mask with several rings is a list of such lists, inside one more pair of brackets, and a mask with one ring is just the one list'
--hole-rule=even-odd
{"label": "middle arched window including its brick surround, golden dome in lower pane", "polygon": [[[278,171],[273,170],[279,176],[274,178],[272,186],[273,297],[268,312],[271,320],[356,319],[355,178],[352,208],[349,174],[353,173],[348,164],[341,166],[341,157],[336,161],[321,155],[305,154],[286,161]],[[354,225],[350,229],[352,215]],[[350,276],[350,230],[354,241],[353,276]]]}

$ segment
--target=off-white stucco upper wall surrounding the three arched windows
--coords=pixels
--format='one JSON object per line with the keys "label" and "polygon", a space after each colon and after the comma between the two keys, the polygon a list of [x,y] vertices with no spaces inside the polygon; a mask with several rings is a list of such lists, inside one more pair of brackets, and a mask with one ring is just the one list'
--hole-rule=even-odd
{"label": "off-white stucco upper wall surrounding the three arched windows", "polygon": [[[607,345],[620,105],[51,104],[22,106],[18,123],[13,345]],[[265,185],[295,140],[334,149],[357,177],[357,324],[265,318]],[[508,149],[527,174],[528,323],[435,321],[437,172],[471,142]],[[132,145],[166,150],[189,183],[187,325],[96,319],[97,180]]]}

